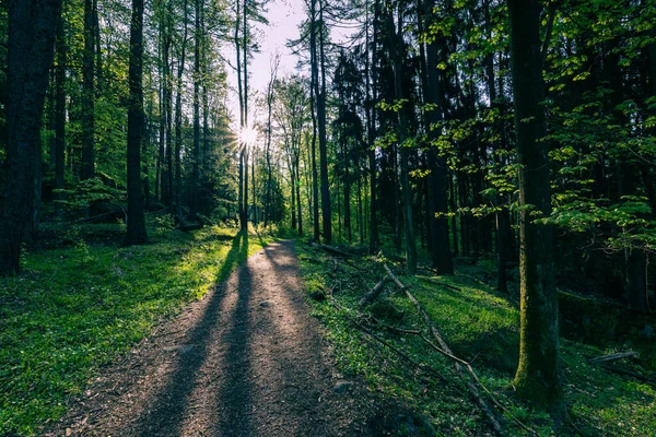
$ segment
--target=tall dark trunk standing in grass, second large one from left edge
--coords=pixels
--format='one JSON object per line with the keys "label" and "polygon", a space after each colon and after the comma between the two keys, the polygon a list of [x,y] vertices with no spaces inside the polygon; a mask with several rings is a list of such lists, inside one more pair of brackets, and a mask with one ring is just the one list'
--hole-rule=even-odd
{"label": "tall dark trunk standing in grass, second large one from left edge", "polygon": [[143,0],[132,0],[128,106],[128,229],[124,246],[148,243],[141,191],[143,141]]}

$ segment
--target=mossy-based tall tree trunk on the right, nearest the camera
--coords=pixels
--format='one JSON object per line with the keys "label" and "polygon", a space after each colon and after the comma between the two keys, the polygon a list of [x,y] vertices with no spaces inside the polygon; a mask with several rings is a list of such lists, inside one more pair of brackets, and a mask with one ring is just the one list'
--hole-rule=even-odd
{"label": "mossy-based tall tree trunk on the right, nearest the camera", "polygon": [[[553,229],[536,223],[551,213],[540,1],[507,0],[519,170],[520,340],[517,395],[564,417],[553,269]],[[539,216],[536,216],[536,213]]]}

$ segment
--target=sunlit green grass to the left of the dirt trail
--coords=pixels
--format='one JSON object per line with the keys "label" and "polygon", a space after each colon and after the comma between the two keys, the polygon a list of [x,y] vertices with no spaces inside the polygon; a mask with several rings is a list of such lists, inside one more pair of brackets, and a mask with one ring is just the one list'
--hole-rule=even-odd
{"label": "sunlit green grass to the left of the dirt trail", "polygon": [[[34,435],[59,418],[99,366],[271,241],[216,226],[156,227],[154,243],[117,248],[112,236],[121,232],[74,228],[68,247],[26,253],[22,274],[0,279],[0,435]],[[110,244],[84,243],[98,235]]]}

